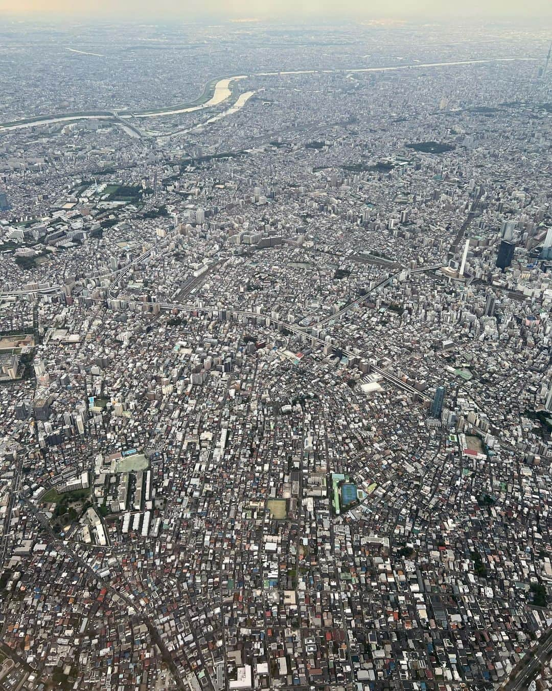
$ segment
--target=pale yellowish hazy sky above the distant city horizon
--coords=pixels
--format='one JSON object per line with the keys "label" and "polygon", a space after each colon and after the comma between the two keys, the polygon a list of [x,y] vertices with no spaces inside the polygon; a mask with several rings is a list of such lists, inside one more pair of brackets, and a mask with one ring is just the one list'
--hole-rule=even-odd
{"label": "pale yellowish hazy sky above the distant city horizon", "polygon": [[0,0],[0,12],[133,19],[213,17],[552,17],[552,0]]}

